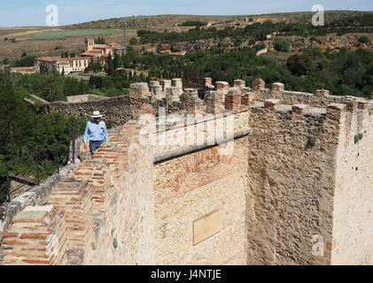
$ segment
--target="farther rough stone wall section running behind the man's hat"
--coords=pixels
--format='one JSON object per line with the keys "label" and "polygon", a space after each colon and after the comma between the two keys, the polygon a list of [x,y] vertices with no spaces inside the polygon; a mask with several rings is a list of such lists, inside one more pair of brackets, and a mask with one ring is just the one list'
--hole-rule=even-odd
{"label": "farther rough stone wall section running behind the man's hat", "polygon": [[158,109],[159,106],[167,107],[167,113],[180,111],[183,104],[180,96],[183,95],[182,79],[152,80],[133,83],[130,85],[130,96],[67,96],[66,102],[43,101],[43,112],[51,114],[61,112],[65,117],[73,115],[78,119],[89,119],[93,111],[100,111],[105,115],[108,126],[122,126],[130,119],[136,119],[136,112],[143,103],[151,103]]}

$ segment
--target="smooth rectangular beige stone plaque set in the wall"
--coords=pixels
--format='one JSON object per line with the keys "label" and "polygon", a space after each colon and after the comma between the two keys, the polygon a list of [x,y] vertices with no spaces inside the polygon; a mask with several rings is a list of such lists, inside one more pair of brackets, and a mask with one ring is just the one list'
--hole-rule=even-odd
{"label": "smooth rectangular beige stone plaque set in the wall", "polygon": [[214,210],[201,218],[193,221],[193,245],[205,241],[215,233],[221,231],[222,213],[221,210]]}

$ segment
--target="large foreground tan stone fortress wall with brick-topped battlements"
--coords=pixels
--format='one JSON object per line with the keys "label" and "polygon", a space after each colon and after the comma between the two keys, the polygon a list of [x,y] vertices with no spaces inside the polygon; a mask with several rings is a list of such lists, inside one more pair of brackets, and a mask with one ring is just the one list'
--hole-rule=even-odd
{"label": "large foreground tan stone fortress wall with brick-topped battlements", "polygon": [[174,81],[131,85],[92,160],[0,208],[4,264],[373,263],[373,101]]}

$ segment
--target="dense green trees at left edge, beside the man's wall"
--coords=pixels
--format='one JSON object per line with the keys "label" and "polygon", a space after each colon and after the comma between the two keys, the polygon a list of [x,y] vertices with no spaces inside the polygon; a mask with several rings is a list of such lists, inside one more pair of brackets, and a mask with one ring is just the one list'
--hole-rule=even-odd
{"label": "dense green trees at left edge, beside the man's wall", "polygon": [[[36,176],[35,157],[27,156],[43,150],[37,157],[37,171],[43,179],[69,153],[74,117],[65,119],[60,113],[50,116],[38,113],[38,105],[33,109],[23,102],[26,94],[14,76],[0,73],[0,203],[6,190],[5,163],[15,160],[9,164],[10,174]],[[85,121],[77,120],[76,125],[77,133],[82,134]],[[54,144],[57,145],[48,149]]]}

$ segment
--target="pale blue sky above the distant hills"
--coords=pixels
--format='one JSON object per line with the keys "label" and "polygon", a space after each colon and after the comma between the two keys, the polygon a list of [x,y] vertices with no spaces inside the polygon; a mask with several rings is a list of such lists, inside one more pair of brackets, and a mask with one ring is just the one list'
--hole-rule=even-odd
{"label": "pale blue sky above the distant hills", "polygon": [[0,27],[47,26],[51,11],[47,12],[46,7],[51,4],[58,7],[58,26],[138,15],[312,11],[315,4],[322,4],[326,11],[373,11],[372,0],[0,0]]}

